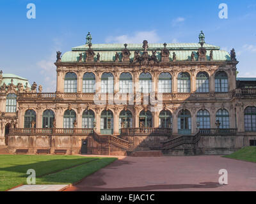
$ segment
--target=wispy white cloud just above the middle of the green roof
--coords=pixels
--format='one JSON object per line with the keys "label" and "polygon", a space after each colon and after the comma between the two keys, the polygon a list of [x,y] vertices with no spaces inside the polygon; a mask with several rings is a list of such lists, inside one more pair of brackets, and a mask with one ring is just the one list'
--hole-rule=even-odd
{"label": "wispy white cloud just above the middle of the green roof", "polygon": [[157,43],[160,38],[156,31],[138,31],[132,36],[129,34],[108,36],[106,43],[142,43],[143,40],[147,40],[148,43]]}

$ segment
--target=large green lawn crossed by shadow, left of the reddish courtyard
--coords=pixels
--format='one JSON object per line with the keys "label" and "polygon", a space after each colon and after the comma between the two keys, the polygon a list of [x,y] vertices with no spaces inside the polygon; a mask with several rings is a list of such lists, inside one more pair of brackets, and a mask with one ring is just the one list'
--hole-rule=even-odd
{"label": "large green lawn crossed by shadow, left of the reddish courtyard", "polygon": [[70,155],[0,155],[0,191],[26,184],[28,169],[36,171],[36,184],[74,184],[115,160]]}

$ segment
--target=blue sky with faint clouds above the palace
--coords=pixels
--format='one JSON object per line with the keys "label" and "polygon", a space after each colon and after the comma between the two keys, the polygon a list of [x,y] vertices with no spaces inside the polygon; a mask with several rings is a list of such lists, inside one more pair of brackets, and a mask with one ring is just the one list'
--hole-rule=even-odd
{"label": "blue sky with faint clouds above the palace", "polygon": [[[28,19],[28,3],[36,18]],[[228,19],[219,18],[220,3]],[[256,77],[256,1],[0,1],[0,69],[56,91],[56,51],[92,43],[197,43],[234,47],[238,77]]]}

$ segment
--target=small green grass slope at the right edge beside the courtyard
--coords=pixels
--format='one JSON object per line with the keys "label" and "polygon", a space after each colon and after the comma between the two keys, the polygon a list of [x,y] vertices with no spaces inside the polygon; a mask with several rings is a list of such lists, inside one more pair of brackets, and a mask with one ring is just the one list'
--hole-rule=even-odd
{"label": "small green grass slope at the right edge beside the courtyard", "polygon": [[256,163],[256,147],[244,147],[243,149],[237,150],[233,154],[223,157]]}

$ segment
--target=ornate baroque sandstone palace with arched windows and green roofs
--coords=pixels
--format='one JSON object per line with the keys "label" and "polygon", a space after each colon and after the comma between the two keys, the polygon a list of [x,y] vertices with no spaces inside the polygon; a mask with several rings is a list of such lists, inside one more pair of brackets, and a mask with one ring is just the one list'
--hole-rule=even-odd
{"label": "ornate baroque sandstone palace with arched windows and green roofs", "polygon": [[[0,73],[0,145],[16,153],[227,154],[256,145],[256,78],[205,43],[86,44],[57,52],[56,92]],[[0,149],[1,152],[1,149]]]}

